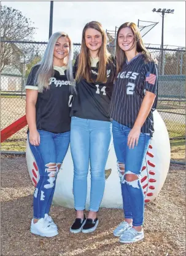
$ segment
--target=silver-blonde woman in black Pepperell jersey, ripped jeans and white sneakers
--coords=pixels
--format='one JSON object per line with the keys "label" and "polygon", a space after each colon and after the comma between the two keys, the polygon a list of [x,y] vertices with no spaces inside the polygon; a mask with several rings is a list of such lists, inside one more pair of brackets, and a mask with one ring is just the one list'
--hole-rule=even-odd
{"label": "silver-blonde woman in black Pepperell jersey, ripped jeans and white sneakers", "polygon": [[69,146],[73,84],[71,39],[64,32],[54,33],[44,57],[33,66],[26,83],[28,140],[40,176],[34,191],[31,233],[40,236],[58,234],[48,213],[56,175]]}

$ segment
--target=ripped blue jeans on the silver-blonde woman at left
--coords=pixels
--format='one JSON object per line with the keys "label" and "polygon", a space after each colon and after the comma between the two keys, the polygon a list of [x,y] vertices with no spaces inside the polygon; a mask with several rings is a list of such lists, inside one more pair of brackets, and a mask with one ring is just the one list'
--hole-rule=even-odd
{"label": "ripped blue jeans on the silver-blonde woman at left", "polygon": [[44,218],[52,204],[56,175],[68,151],[70,132],[63,134],[53,134],[45,130],[38,132],[39,146],[29,143],[39,169],[39,182],[34,191],[34,218]]}

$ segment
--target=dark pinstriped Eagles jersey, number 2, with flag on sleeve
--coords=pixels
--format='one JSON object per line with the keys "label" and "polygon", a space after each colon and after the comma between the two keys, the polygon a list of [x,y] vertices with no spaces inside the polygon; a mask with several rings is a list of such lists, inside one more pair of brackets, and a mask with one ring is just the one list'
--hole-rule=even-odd
{"label": "dark pinstriped Eagles jersey, number 2, with flag on sleeve", "polygon": [[[145,63],[143,54],[134,57],[130,62],[123,63],[122,71],[115,79],[114,90],[109,106],[110,118],[133,128],[138,117],[145,91],[157,95],[158,70],[154,62]],[[157,106],[157,97],[149,116],[141,128],[144,134],[153,134],[153,111]]]}

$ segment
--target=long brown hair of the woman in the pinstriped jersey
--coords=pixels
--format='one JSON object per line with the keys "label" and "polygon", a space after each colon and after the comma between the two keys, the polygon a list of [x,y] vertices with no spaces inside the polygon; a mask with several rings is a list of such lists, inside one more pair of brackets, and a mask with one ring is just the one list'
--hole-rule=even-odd
{"label": "long brown hair of the woman in the pinstriped jersey", "polygon": [[122,70],[123,62],[126,60],[126,54],[124,50],[122,50],[118,45],[118,34],[120,33],[120,30],[122,30],[122,28],[131,28],[131,30],[133,31],[134,42],[133,42],[133,46],[131,46],[131,49],[136,45],[137,52],[141,52],[142,54],[144,54],[145,62],[152,62],[152,61],[155,62],[155,60],[153,60],[150,53],[144,46],[138,26],[136,26],[136,24],[133,22],[125,22],[118,28],[118,31],[117,31],[116,46],[115,46],[115,55],[117,60],[117,74]]}

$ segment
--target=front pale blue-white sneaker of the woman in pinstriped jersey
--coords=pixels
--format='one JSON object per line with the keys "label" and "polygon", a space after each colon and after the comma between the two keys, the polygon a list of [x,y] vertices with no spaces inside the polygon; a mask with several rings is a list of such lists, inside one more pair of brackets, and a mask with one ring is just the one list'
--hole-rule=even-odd
{"label": "front pale blue-white sneaker of the woman in pinstriped jersey", "polygon": [[144,238],[143,229],[138,232],[134,228],[130,228],[130,230],[126,230],[122,236],[120,236],[120,242],[130,243],[130,242],[138,242]]}

